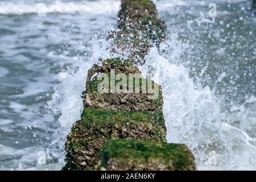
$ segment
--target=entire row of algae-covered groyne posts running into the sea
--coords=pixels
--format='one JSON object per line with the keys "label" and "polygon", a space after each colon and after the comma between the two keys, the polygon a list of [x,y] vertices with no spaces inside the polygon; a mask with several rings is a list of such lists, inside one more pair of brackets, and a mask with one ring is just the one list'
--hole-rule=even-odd
{"label": "entire row of algae-covered groyne posts running into the sea", "polygon": [[122,0],[118,30],[108,40],[113,54],[128,58],[101,60],[89,70],[84,111],[65,144],[64,170],[196,169],[187,146],[166,143],[161,87],[136,66],[165,38],[166,26],[152,1]]}

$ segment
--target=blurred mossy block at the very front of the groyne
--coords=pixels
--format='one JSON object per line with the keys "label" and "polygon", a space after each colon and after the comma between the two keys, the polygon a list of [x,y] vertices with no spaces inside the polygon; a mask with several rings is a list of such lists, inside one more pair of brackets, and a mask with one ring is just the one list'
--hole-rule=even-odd
{"label": "blurred mossy block at the very front of the groyne", "polygon": [[100,153],[101,170],[195,170],[194,156],[184,144],[133,139],[108,140]]}

